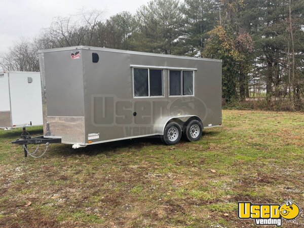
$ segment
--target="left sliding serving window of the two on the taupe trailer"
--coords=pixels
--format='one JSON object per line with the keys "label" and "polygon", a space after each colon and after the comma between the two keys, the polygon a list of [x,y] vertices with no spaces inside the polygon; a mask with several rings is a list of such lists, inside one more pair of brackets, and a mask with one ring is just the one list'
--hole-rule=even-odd
{"label": "left sliding serving window of the two on the taupe trailer", "polygon": [[134,97],[163,96],[163,69],[133,68]]}

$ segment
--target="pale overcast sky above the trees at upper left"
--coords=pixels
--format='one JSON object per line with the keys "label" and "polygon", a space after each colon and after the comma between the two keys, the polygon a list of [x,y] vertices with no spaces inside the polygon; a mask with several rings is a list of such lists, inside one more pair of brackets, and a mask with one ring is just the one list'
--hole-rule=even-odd
{"label": "pale overcast sky above the trees at upper left", "polygon": [[33,37],[49,27],[56,16],[68,16],[87,10],[105,11],[103,19],[137,8],[148,0],[0,0],[0,53],[8,50],[19,37]]}

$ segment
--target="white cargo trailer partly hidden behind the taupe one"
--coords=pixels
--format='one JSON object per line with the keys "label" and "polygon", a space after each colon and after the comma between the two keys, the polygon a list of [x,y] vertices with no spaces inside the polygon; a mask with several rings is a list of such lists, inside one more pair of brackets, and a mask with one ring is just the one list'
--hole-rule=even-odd
{"label": "white cargo trailer partly hidden behind the taupe one", "polygon": [[0,71],[0,128],[43,125],[40,72]]}

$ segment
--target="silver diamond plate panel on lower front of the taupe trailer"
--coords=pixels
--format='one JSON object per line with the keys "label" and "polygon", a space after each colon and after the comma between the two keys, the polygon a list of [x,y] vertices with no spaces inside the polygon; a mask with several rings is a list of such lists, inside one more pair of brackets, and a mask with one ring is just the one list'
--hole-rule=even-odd
{"label": "silver diamond plate panel on lower front of the taupe trailer", "polygon": [[62,143],[85,144],[84,117],[47,117],[45,136],[60,137]]}

